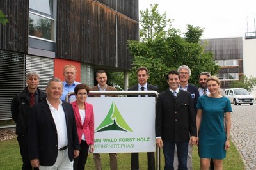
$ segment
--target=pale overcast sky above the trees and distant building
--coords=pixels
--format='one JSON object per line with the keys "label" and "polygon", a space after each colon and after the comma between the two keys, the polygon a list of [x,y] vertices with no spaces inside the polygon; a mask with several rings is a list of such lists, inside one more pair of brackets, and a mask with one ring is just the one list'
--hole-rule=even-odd
{"label": "pale overcast sky above the trees and distant building", "polygon": [[243,37],[255,31],[256,0],[139,0],[139,10],[158,4],[181,33],[187,24],[204,28],[202,39]]}

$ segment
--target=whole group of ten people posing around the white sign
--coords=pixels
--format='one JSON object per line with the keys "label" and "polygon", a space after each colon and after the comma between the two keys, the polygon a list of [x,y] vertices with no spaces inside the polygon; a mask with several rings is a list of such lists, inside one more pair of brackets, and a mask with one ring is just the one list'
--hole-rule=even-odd
{"label": "whole group of ten people posing around the white sign", "polygon": [[[11,105],[22,169],[84,169],[88,152],[94,151],[93,106],[86,99],[90,91],[116,89],[106,84],[104,70],[95,73],[97,85],[92,88],[76,82],[76,73],[75,66],[65,66],[65,81],[50,79],[46,94],[38,88],[40,75],[35,71],[27,73],[28,86]],[[157,86],[147,83],[147,68],[138,68],[136,74],[138,84],[129,91],[158,91]],[[157,98],[156,145],[163,148],[164,169],[192,169],[193,144],[198,145],[201,169],[209,169],[210,158],[215,169],[222,169],[225,151],[230,147],[230,102],[221,95],[217,77],[200,73],[198,89],[188,83],[190,75],[186,65],[170,71],[166,76],[169,88]],[[76,98],[65,102],[70,91]],[[147,157],[148,169],[155,169],[154,152],[147,153]],[[118,169],[117,158],[116,153],[109,153],[111,170]],[[95,169],[102,169],[99,153],[93,153],[93,160]],[[131,169],[139,169],[138,153],[131,154]]]}

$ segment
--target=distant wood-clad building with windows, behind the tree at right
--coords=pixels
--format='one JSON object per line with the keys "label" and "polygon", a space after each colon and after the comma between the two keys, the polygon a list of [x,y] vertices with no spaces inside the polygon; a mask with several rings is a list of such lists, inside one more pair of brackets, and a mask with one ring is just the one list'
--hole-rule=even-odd
{"label": "distant wood-clad building with windows, behind the tree at right", "polygon": [[228,88],[230,82],[239,80],[243,75],[243,38],[215,38],[201,42],[205,51],[212,52],[221,70],[218,78],[221,88]]}

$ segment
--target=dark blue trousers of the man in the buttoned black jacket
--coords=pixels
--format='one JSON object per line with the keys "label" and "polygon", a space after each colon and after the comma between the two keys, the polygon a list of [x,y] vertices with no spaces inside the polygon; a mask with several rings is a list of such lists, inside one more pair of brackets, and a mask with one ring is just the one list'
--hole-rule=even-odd
{"label": "dark blue trousers of the man in the buttoned black jacket", "polygon": [[188,157],[188,142],[181,142],[181,143],[172,143],[172,142],[164,142],[163,145],[163,153],[165,158],[165,170],[173,170],[173,160],[174,160],[174,148],[175,144],[177,146],[177,155],[178,155],[178,162],[179,170],[187,170],[187,157]]}

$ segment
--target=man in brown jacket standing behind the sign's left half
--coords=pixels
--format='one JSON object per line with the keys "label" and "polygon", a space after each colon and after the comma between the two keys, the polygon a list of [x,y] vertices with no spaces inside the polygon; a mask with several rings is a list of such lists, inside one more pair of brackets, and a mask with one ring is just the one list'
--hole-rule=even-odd
{"label": "man in brown jacket standing behind the sign's left half", "polygon": [[[98,70],[95,73],[96,81],[98,84],[96,86],[93,86],[90,91],[116,91],[116,88],[113,88],[112,86],[109,86],[107,84],[107,73],[104,70]],[[92,95],[92,97],[106,97],[106,95]],[[113,97],[113,96],[112,96]],[[117,154],[116,153],[109,153],[109,160],[110,160],[110,169],[111,170],[117,170]],[[99,153],[93,153],[93,160],[95,164],[96,170],[102,169],[102,163]]]}

